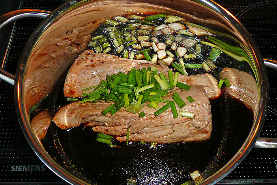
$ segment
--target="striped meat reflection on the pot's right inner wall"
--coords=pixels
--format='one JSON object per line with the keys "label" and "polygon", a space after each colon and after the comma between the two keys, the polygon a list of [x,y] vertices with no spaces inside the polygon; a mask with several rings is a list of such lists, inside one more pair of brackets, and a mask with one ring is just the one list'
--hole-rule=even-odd
{"label": "striped meat reflection on the pot's right inner wall", "polygon": [[259,90],[256,80],[252,75],[234,68],[223,68],[220,72],[220,78],[228,78],[230,87],[225,87],[229,95],[240,99],[246,106],[254,112],[254,118],[258,110]]}

